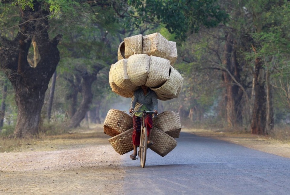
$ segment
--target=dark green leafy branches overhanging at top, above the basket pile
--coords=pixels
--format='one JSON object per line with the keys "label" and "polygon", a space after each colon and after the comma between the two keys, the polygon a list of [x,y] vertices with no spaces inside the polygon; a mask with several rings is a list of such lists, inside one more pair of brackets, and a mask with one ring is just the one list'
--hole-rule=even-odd
{"label": "dark green leafy branches overhanging at top, above the basket pile", "polygon": [[216,0],[129,0],[128,4],[135,9],[128,11],[127,26],[139,27],[142,22],[164,24],[169,33],[175,33],[176,39],[182,41],[188,32],[198,32],[201,26],[215,27],[228,18]]}

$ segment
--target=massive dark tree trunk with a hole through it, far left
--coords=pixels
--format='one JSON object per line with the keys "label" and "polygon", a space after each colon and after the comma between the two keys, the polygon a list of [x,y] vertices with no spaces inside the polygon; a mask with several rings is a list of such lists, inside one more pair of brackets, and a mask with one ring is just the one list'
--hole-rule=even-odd
{"label": "massive dark tree trunk with a hole through it, far left", "polygon": [[[17,37],[12,41],[2,37],[0,50],[1,67],[13,85],[18,106],[16,137],[37,136],[44,94],[60,60],[57,44],[61,35],[49,40],[49,13],[41,9],[38,1],[33,3],[34,10],[21,10]],[[29,66],[27,60],[33,35],[40,56],[36,67]]]}

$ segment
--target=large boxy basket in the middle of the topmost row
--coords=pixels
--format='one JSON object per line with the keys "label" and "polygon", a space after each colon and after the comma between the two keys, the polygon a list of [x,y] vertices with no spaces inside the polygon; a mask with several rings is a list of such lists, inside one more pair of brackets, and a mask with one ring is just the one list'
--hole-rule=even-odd
{"label": "large boxy basket in the middle of the topmost row", "polygon": [[167,59],[170,54],[170,43],[160,33],[143,36],[143,53]]}

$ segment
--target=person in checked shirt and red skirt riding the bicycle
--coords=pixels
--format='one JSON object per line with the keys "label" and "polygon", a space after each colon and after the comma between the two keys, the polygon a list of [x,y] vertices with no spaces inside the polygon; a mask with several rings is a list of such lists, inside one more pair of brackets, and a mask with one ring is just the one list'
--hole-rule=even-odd
{"label": "person in checked shirt and red skirt riding the bicycle", "polygon": [[[134,95],[131,100],[129,113],[135,111],[155,111],[155,114],[158,113],[158,101],[156,93],[151,90],[146,85],[142,85],[140,89],[134,91]],[[137,146],[140,145],[140,135],[141,135],[141,125],[142,125],[142,112],[135,112],[133,114],[133,153],[130,155],[132,160],[136,160],[137,156]],[[153,127],[152,114],[146,113],[145,117],[145,126],[147,128],[147,136],[150,135],[150,131]],[[148,145],[153,144],[148,137]]]}

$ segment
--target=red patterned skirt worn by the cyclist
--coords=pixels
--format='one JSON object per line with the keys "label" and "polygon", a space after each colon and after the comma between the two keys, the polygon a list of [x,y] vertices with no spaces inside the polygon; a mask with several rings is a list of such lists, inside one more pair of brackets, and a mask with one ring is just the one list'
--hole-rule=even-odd
{"label": "red patterned skirt worn by the cyclist", "polygon": [[[134,145],[140,145],[140,135],[141,135],[141,126],[142,126],[142,118],[133,116],[133,135],[132,140]],[[147,128],[147,136],[149,136],[149,133],[153,126],[153,120],[152,120],[152,114],[147,113],[145,117],[145,126]]]}

